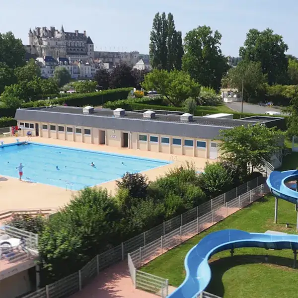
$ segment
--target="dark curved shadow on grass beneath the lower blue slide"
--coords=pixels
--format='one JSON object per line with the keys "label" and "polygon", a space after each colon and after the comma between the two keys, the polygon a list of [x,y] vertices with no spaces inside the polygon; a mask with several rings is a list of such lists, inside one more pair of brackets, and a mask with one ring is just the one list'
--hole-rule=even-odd
{"label": "dark curved shadow on grass beneath the lower blue slide", "polygon": [[266,262],[265,255],[266,254],[263,254],[263,255],[244,254],[244,255],[235,255],[233,257],[224,257],[215,261],[211,261],[210,268],[212,271],[212,279],[206,291],[214,295],[224,297],[224,284],[223,284],[224,273],[226,273],[229,269],[240,265],[248,265],[248,264],[277,265],[281,267],[291,268],[292,270],[297,270],[297,269],[293,269],[294,260],[291,258],[268,255],[268,261]]}

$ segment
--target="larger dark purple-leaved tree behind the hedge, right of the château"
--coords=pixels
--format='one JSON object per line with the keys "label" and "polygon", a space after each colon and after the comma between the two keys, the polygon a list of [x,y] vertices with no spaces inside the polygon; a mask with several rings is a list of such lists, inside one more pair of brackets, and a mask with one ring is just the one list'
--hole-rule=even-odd
{"label": "larger dark purple-leaved tree behind the hedge, right of the ch\u00e2teau", "polygon": [[117,65],[110,77],[110,88],[134,87],[136,85],[135,77],[131,67],[122,63]]}

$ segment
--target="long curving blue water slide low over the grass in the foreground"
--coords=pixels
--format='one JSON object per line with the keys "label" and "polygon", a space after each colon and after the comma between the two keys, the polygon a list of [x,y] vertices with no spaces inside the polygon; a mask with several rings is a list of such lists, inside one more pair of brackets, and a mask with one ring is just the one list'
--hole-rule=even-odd
{"label": "long curving blue water slide low over the grass in the foreground", "polygon": [[197,298],[211,280],[210,257],[220,251],[242,247],[297,250],[298,235],[249,233],[236,229],[210,233],[187,253],[185,280],[168,298]]}

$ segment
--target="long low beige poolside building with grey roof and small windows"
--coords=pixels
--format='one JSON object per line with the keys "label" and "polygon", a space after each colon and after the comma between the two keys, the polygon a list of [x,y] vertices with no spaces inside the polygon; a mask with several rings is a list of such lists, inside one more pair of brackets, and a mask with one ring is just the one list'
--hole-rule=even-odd
{"label": "long low beige poolside building with grey roof and small windows", "polygon": [[32,136],[90,144],[149,150],[216,159],[220,130],[262,123],[284,124],[284,118],[247,117],[241,120],[196,117],[169,111],[128,112],[87,106],[49,106],[17,109],[19,136]]}

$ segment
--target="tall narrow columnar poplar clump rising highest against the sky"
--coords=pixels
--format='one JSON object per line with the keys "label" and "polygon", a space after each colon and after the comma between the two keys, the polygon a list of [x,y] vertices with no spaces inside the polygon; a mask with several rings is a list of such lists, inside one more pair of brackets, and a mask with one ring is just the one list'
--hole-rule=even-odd
{"label": "tall narrow columnar poplar clump rising highest against the sky", "polygon": [[181,70],[183,46],[181,31],[176,31],[174,17],[157,12],[150,32],[149,55],[152,68]]}

